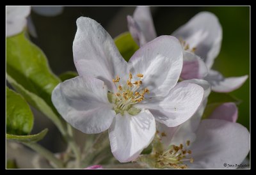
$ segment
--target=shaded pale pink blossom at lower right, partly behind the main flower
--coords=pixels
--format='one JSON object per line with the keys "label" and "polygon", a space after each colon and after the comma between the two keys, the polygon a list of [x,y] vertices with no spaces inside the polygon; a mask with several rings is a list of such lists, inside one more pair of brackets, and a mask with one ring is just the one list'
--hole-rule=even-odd
{"label": "shaded pale pink blossom at lower right, partly behind the main flower", "polygon": [[224,164],[239,165],[250,150],[250,133],[235,123],[234,103],[223,103],[209,119],[202,119],[211,85],[205,80],[184,80],[204,88],[203,102],[196,113],[179,126],[157,123],[157,135],[150,155],[141,155],[138,162],[156,168],[226,169]]}

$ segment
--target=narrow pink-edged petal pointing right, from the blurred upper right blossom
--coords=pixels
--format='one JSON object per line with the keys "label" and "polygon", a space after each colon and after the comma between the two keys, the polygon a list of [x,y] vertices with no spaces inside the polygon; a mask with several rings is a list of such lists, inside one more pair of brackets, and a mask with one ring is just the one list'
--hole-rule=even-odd
{"label": "narrow pink-edged petal pointing right, from the blurred upper right blossom", "polygon": [[212,85],[212,91],[218,93],[229,93],[240,88],[246,79],[248,79],[248,75],[225,78],[220,72],[210,70],[204,79]]}

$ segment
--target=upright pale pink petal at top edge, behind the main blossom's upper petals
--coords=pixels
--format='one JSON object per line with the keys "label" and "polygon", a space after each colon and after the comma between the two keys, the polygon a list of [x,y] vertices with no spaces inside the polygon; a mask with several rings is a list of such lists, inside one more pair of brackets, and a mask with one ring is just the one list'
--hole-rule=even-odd
{"label": "upright pale pink petal at top edge, behind the main blossom's upper petals", "polygon": [[[135,27],[134,24],[138,27]],[[156,38],[156,30],[154,27],[149,6],[137,6],[136,10],[133,13],[133,20],[131,18],[128,19],[128,27],[129,31],[132,34],[132,37],[135,36],[134,38],[139,39],[138,44],[140,45],[140,47]]]}

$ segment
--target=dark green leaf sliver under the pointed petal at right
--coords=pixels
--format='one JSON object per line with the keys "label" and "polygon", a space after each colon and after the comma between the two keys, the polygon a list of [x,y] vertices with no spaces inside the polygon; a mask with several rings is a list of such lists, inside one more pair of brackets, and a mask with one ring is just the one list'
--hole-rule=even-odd
{"label": "dark green leaf sliver under the pointed petal at right", "polygon": [[226,102],[234,102],[236,104],[239,104],[241,102],[241,100],[239,100],[235,96],[229,95],[227,93],[211,92],[207,103],[211,104],[211,103],[226,103]]}

